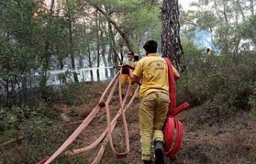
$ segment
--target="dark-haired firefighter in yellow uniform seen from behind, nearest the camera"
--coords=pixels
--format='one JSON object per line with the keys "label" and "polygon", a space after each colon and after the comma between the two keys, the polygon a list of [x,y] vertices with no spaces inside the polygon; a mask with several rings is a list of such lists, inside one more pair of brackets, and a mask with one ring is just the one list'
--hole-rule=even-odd
{"label": "dark-haired firefighter in yellow uniform seen from behind, nearest the camera", "polygon": [[[146,41],[143,48],[146,57],[143,57],[134,71],[129,69],[132,84],[142,78],[139,91],[139,128],[142,149],[142,161],[151,164],[151,140],[154,140],[155,164],[164,164],[163,132],[162,127],[166,121],[166,114],[170,103],[168,70],[166,61],[158,55],[157,41]],[[175,69],[175,70],[174,70]]]}

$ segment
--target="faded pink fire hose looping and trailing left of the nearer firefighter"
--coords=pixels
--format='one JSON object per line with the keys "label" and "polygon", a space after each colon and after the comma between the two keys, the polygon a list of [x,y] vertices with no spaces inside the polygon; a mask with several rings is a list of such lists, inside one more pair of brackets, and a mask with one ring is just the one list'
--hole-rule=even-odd
{"label": "faded pink fire hose looping and trailing left of the nearer firefighter", "polygon": [[[67,151],[66,154],[72,155],[72,154],[82,153],[82,152],[85,152],[86,150],[91,150],[92,148],[94,148],[95,146],[98,146],[98,144],[102,142],[102,146],[98,150],[98,154],[94,158],[94,161],[92,162],[92,163],[98,163],[100,161],[100,159],[102,158],[102,154],[105,151],[106,143],[110,142],[110,147],[111,147],[116,158],[124,158],[127,156],[127,154],[129,153],[129,150],[130,150],[130,144],[129,144],[129,135],[128,135],[128,127],[127,127],[127,123],[126,123],[125,111],[127,110],[128,107],[130,107],[136,94],[134,94],[134,96],[130,99],[129,103],[126,103],[127,97],[129,96],[130,88],[132,87],[129,85],[127,92],[126,92],[126,96],[125,96],[124,100],[122,100],[122,92],[121,92],[121,84],[120,84],[121,74],[122,74],[122,69],[120,69],[120,72],[118,72],[117,75],[114,76],[114,79],[111,80],[111,82],[107,86],[106,90],[102,93],[102,96],[101,96],[100,100],[98,101],[98,105],[96,105],[96,107],[94,107],[94,109],[90,112],[90,115],[88,115],[86,117],[86,119],[84,119],[84,121],[80,124],[80,126],[73,132],[72,135],[70,135],[70,137],[68,139],[66,139],[66,141],[62,144],[62,146],[60,146],[58,148],[58,150],[56,150],[54,152],[54,154],[52,154],[50,157],[47,156],[46,158],[42,159],[42,161],[38,162],[38,164],[48,164],[48,163],[52,162],[55,158],[57,158],[58,155],[61,154],[62,151],[65,150],[67,146],[69,146],[71,143],[73,143],[74,139],[76,139],[78,137],[78,135],[80,135],[82,133],[82,131],[89,125],[89,123],[95,118],[95,116],[98,114],[98,112],[100,110],[102,110],[103,107],[106,108],[106,117],[107,117],[106,130],[90,146],[86,146],[86,147],[83,147],[83,148],[77,149],[77,150],[70,150],[70,151]],[[119,84],[119,86],[118,86],[118,84]],[[119,90],[120,108],[119,108],[117,115],[115,115],[114,119],[111,120],[109,103],[114,95],[114,91],[117,88],[117,86],[119,87],[118,90]],[[138,88],[136,89],[135,93],[136,92],[138,92]],[[104,101],[106,94],[108,94],[107,99],[106,99],[106,101]],[[122,123],[123,123],[124,131],[125,131],[126,150],[124,152],[118,152],[117,150],[115,150],[114,145],[113,145],[113,139],[112,139],[112,131],[114,131],[114,127],[117,123],[119,116],[122,116]]]}

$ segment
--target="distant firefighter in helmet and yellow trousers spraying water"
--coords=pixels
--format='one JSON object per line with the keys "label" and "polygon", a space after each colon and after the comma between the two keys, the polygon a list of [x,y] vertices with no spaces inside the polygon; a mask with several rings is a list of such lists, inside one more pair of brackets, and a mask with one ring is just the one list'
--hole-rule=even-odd
{"label": "distant firefighter in helmet and yellow trousers spraying water", "polygon": [[[134,53],[133,52],[127,52],[127,59],[123,62],[123,64],[128,64],[132,67],[135,66],[134,62]],[[121,89],[122,89],[122,97],[126,95],[126,82],[130,85],[130,76],[129,72],[126,72],[126,70],[122,70],[122,76],[121,76]],[[130,91],[130,97],[134,96],[134,88],[131,87]]]}

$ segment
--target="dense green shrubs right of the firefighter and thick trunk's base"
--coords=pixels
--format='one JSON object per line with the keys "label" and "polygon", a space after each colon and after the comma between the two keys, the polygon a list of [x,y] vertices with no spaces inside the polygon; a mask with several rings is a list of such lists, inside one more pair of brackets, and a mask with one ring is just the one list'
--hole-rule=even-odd
{"label": "dense green shrubs right of the firefighter and thick trunk's base", "polygon": [[188,100],[191,106],[207,104],[214,115],[248,110],[256,81],[253,54],[236,54],[234,58],[206,57],[199,49],[188,52],[182,57],[186,70],[178,80],[179,99]]}

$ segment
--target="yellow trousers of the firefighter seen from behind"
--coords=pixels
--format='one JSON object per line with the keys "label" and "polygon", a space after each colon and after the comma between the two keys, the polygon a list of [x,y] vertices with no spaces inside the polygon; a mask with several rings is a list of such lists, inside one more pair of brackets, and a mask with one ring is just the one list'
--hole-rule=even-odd
{"label": "yellow trousers of the firefighter seen from behind", "polygon": [[139,104],[139,127],[142,160],[151,160],[151,141],[163,141],[162,127],[166,121],[169,96],[164,92],[151,92]]}

